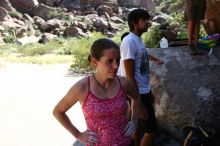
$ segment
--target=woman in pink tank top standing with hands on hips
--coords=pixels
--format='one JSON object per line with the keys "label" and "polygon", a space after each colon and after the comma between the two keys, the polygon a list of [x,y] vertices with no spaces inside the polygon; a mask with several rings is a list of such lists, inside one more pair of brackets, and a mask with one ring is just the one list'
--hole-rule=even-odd
{"label": "woman in pink tank top standing with hands on hips", "polygon": [[[55,106],[56,119],[76,139],[87,146],[129,146],[136,130],[140,97],[132,82],[116,75],[119,47],[109,39],[96,40],[90,50],[89,61],[95,69],[79,80]],[[126,117],[127,95],[132,100],[132,115]],[[79,102],[87,130],[79,131],[66,112]],[[76,119],[75,119],[76,120]]]}

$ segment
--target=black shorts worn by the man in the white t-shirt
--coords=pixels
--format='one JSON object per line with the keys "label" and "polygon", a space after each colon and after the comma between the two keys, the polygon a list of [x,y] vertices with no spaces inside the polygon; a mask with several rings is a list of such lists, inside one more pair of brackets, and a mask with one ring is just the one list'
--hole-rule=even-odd
{"label": "black shorts worn by the man in the white t-shirt", "polygon": [[157,121],[155,117],[153,103],[151,101],[152,96],[154,98],[154,95],[150,91],[148,94],[140,94],[140,96],[148,112],[147,120],[138,119],[137,129],[138,129],[138,133],[141,134],[140,136],[142,137],[144,133],[157,133],[158,126],[157,126]]}

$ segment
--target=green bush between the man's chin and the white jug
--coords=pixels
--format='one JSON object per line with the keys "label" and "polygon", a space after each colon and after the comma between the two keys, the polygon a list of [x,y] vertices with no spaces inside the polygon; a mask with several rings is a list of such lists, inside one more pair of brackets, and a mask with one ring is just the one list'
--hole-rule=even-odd
{"label": "green bush between the man's chin and the white jug", "polygon": [[161,39],[159,26],[152,26],[142,35],[143,42],[148,48],[158,48]]}

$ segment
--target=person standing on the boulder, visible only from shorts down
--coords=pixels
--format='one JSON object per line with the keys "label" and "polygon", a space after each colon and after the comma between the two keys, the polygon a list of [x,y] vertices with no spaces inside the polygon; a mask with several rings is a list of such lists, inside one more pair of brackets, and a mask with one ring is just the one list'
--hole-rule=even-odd
{"label": "person standing on the boulder, visible only from shorts down", "polygon": [[188,26],[188,52],[191,55],[202,55],[199,50],[198,40],[200,32],[200,20],[205,17],[206,0],[186,0],[185,20]]}

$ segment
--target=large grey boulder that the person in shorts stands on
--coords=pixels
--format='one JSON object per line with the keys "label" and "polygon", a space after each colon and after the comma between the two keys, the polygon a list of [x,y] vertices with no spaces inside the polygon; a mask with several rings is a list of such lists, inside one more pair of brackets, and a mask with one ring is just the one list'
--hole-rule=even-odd
{"label": "large grey boulder that the person in shorts stands on", "polygon": [[151,87],[156,97],[158,123],[175,137],[185,126],[201,126],[220,131],[220,50],[204,56],[191,56],[185,47],[149,49],[163,60],[151,62]]}

